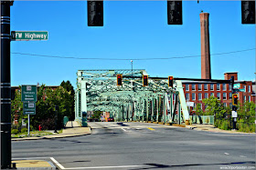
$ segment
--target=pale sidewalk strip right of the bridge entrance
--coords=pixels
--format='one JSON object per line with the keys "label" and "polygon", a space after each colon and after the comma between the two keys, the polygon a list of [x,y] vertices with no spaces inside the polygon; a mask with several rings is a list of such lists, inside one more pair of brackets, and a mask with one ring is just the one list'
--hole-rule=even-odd
{"label": "pale sidewalk strip right of the bridge entrance", "polygon": [[255,133],[245,133],[245,132],[239,132],[236,130],[222,130],[214,125],[203,125],[203,124],[192,124],[192,125],[186,125],[186,128],[190,128],[197,131],[208,131],[208,132],[216,132],[216,133],[228,133],[228,134],[251,134],[255,135]]}

